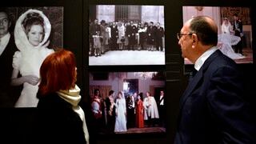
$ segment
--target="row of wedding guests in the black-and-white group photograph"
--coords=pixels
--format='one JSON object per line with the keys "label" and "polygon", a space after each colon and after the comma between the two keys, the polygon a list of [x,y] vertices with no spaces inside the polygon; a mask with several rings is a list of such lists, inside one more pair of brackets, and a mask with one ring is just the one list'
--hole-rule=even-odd
{"label": "row of wedding guests in the black-and-white group photograph", "polygon": [[160,22],[89,22],[90,56],[109,50],[163,51],[164,29]]}

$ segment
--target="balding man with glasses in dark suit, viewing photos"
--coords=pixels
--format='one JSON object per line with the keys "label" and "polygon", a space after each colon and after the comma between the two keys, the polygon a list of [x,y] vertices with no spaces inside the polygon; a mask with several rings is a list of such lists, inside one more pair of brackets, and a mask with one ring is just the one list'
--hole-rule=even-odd
{"label": "balding man with glasses in dark suit, viewing photos", "polygon": [[182,57],[198,72],[182,96],[174,143],[254,143],[255,125],[242,98],[241,77],[236,63],[216,48],[214,20],[192,18],[177,36]]}

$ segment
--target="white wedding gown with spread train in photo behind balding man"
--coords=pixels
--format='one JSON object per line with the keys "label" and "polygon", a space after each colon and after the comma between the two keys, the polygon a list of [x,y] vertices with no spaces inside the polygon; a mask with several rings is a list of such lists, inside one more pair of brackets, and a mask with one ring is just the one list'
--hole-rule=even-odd
{"label": "white wedding gown with spread train in photo behind balding man", "polygon": [[238,44],[241,38],[230,34],[218,34],[218,48],[223,54],[232,59],[246,58],[242,54],[235,53],[232,46]]}

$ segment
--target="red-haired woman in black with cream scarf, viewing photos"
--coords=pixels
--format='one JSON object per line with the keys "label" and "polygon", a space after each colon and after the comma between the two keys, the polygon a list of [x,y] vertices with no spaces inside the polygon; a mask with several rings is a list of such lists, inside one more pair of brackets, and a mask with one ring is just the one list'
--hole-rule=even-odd
{"label": "red-haired woman in black with cream scarf, viewing photos", "polygon": [[89,143],[84,111],[75,85],[77,68],[74,54],[58,50],[40,68],[38,90],[38,134],[42,143]]}

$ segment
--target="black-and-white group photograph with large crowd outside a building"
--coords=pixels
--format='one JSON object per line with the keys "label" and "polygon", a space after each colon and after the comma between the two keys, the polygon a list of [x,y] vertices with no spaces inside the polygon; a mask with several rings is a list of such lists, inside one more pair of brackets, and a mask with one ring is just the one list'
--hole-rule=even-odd
{"label": "black-and-white group photograph with large crowd outside a building", "polygon": [[91,5],[89,10],[90,66],[165,65],[164,6]]}

